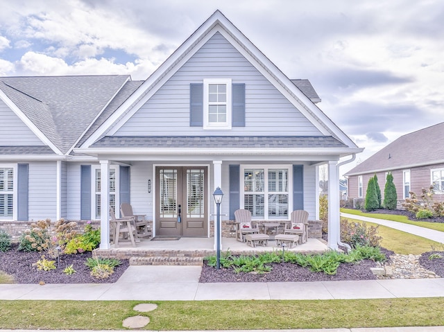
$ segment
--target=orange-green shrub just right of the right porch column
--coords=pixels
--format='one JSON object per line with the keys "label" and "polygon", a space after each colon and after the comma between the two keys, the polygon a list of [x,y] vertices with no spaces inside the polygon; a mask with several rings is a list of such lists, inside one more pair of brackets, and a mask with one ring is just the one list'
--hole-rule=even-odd
{"label": "orange-green shrub just right of the right porch column", "polygon": [[378,227],[367,227],[366,222],[352,223],[341,219],[341,241],[348,243],[352,248],[358,245],[379,247],[382,237],[377,235]]}

